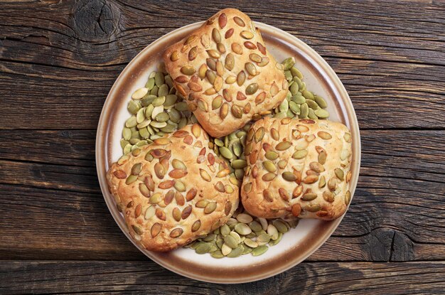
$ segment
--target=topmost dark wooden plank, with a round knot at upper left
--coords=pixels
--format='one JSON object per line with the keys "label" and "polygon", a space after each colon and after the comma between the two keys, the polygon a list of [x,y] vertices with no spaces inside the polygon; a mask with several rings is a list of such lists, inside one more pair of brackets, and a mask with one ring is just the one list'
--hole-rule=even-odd
{"label": "topmost dark wooden plank, with a round knot at upper left", "polygon": [[[139,50],[225,6],[209,3],[202,11],[201,5],[62,1],[36,3],[26,18],[28,4],[2,5],[0,95],[9,103],[0,109],[0,127],[95,129],[112,83]],[[237,7],[321,53],[350,92],[360,127],[445,126],[440,3],[280,1],[271,10],[244,1]]]}

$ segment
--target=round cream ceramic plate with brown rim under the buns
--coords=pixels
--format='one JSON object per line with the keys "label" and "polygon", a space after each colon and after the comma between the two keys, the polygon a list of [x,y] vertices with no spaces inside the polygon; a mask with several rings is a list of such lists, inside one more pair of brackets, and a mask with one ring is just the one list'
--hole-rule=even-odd
{"label": "round cream ceramic plate with brown rim under the buns", "polygon": [[[129,117],[127,104],[134,90],[144,87],[151,71],[156,70],[156,65],[162,60],[163,50],[187,36],[201,24],[202,22],[193,23],[178,28],[144,48],[114,82],[102,109],[96,139],[97,174],[109,211],[122,232],[132,242],[124,217],[116,208],[105,178],[110,163],[122,156],[119,140],[124,122]],[[321,95],[328,102],[331,121],[343,122],[351,130],[353,176],[350,181],[350,192],[353,194],[360,170],[360,134],[353,104],[343,84],[326,61],[304,42],[278,28],[264,23],[255,24],[262,32],[267,49],[277,60],[281,61],[289,56],[296,58],[296,67],[303,73],[307,89]],[[162,267],[185,277],[215,283],[244,283],[272,277],[299,264],[323,245],[323,242],[336,230],[341,219],[331,222],[301,220],[296,228],[283,236],[278,245],[270,247],[266,253],[258,257],[247,254],[237,258],[215,259],[209,254],[196,254],[191,249],[157,253],[144,250],[135,243],[134,245]]]}

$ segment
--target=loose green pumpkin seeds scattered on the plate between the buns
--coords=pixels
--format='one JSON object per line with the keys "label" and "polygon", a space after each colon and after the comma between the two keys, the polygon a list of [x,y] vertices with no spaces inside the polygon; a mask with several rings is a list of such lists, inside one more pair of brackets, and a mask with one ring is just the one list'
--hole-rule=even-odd
{"label": "loose green pumpkin seeds scattered on the plate between the buns", "polygon": [[[279,107],[272,109],[269,116],[277,118],[326,119],[329,117],[323,97],[306,89],[303,75],[294,66],[295,58],[286,58],[283,63],[284,75],[289,82],[286,99]],[[125,122],[120,144],[124,154],[137,147],[151,144],[165,134],[175,132],[186,124],[197,122],[188,109],[187,103],[173,87],[171,76],[165,73],[163,65],[149,75],[145,87],[136,90],[130,100],[128,111],[132,114]],[[241,186],[247,161],[244,149],[246,135],[252,123],[220,139],[210,139],[209,148],[230,163],[230,173]],[[242,205],[225,225],[206,237],[186,245],[198,254],[210,253],[212,257],[239,257],[252,253],[263,254],[282,240],[298,220],[266,220],[254,218],[246,213]]]}

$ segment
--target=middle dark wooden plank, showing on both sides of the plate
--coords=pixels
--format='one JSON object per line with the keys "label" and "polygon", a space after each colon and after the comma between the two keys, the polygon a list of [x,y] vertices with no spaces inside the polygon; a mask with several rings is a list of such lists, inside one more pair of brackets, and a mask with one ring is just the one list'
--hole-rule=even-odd
{"label": "middle dark wooden plank, showing on both sides of the plate", "polygon": [[[20,220],[4,224],[0,256],[140,259],[100,193],[92,157],[95,132],[27,134],[0,131],[0,214],[3,220]],[[444,135],[439,130],[363,131],[353,204],[333,237],[310,259],[445,259]],[[26,154],[11,149],[13,144],[25,146]]]}

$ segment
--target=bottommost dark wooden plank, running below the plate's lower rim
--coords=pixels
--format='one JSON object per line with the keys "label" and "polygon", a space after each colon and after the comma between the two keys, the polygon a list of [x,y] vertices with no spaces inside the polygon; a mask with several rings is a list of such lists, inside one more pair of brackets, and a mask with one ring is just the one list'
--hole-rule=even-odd
{"label": "bottommost dark wooden plank, running below the plate's lower rim", "polygon": [[441,294],[445,262],[304,262],[250,284],[209,284],[151,261],[0,264],[3,294]]}

